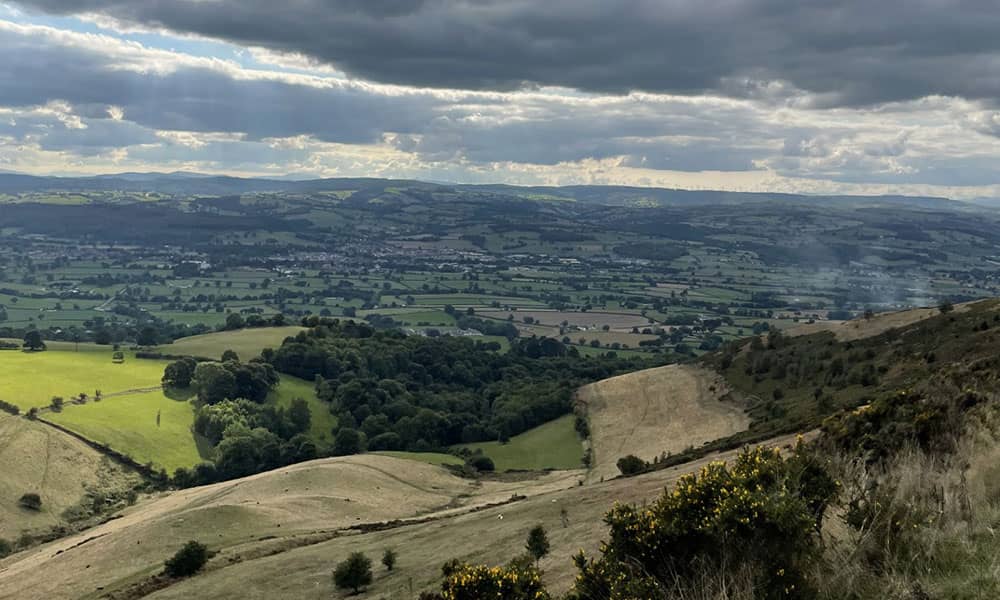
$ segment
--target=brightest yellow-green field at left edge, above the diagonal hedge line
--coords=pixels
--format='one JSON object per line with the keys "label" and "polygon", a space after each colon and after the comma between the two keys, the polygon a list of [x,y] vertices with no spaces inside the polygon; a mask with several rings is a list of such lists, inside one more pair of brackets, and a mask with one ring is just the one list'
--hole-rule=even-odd
{"label": "brightest yellow-green field at left edge, above the diagonal hedge line", "polygon": [[[104,395],[160,384],[166,361],[137,360],[126,353],[122,364],[112,362],[108,346],[81,344],[80,352],[0,351],[0,400],[22,410],[48,406],[53,396],[67,401],[81,392]],[[68,344],[60,347],[69,347]],[[86,347],[86,349],[84,349]]]}

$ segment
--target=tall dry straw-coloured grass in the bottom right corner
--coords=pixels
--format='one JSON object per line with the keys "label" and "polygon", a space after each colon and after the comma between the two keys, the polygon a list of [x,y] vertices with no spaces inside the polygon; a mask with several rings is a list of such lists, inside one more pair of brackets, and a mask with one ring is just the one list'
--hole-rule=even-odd
{"label": "tall dry straw-coloured grass in the bottom right corner", "polygon": [[[818,575],[823,597],[994,598],[1000,593],[1000,446],[970,436],[957,453],[909,449],[890,464],[837,464],[844,506],[828,521],[828,562]],[[871,525],[849,528],[853,497],[881,490]],[[886,521],[902,524],[887,535]]]}

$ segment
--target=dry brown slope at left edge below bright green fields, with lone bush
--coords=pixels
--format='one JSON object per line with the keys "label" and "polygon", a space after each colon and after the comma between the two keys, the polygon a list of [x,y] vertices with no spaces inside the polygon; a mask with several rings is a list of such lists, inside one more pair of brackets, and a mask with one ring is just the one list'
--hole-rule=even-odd
{"label": "dry brown slope at left edge below bright green fields, with lone bush", "polygon": [[[2,413],[0,465],[0,538],[10,541],[66,524],[88,492],[121,493],[140,479],[65,433]],[[40,511],[18,506],[28,492],[41,496]]]}

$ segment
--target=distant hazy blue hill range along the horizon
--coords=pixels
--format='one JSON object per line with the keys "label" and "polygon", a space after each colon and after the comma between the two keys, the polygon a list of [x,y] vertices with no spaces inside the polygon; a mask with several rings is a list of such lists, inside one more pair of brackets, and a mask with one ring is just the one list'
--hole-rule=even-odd
{"label": "distant hazy blue hill range along the horizon", "polygon": [[903,205],[928,210],[1000,207],[1000,202],[975,204],[947,198],[923,196],[814,196],[755,192],[679,190],[628,186],[573,185],[562,187],[513,185],[462,185],[427,183],[415,180],[338,178],[300,180],[294,176],[258,179],[205,175],[201,173],[117,173],[94,177],[38,177],[0,171],[0,193],[31,192],[154,192],[168,195],[227,196],[249,193],[315,193],[324,191],[365,191],[369,194],[393,190],[418,193],[469,193],[518,197],[533,200],[581,202],[605,206],[698,206],[780,202],[813,204],[835,201],[839,206]]}

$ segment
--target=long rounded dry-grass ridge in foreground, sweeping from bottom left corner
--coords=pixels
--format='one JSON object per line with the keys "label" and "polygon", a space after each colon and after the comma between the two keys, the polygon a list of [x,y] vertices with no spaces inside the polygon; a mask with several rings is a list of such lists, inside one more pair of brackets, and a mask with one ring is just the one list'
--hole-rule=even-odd
{"label": "long rounded dry-grass ridge in foreground, sweeping from bottom left corner", "polygon": [[[582,472],[475,481],[424,463],[362,455],[301,463],[163,494],[121,516],[0,561],[0,598],[79,598],[149,575],[184,542],[253,555],[362,523],[449,515],[577,484]],[[40,578],[37,573],[46,572]]]}

